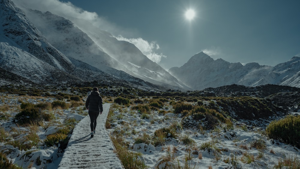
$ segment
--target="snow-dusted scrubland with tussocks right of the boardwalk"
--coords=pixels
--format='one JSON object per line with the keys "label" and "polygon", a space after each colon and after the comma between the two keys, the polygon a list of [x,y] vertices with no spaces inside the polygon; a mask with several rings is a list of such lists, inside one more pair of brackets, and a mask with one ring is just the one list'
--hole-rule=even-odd
{"label": "snow-dusted scrubland with tussocks right of the boardwalk", "polygon": [[[273,106],[251,97],[119,97],[106,126],[117,149],[135,153],[125,168],[299,168],[298,143],[285,144],[289,131],[300,139],[291,127],[299,118],[272,121],[283,117]],[[282,121],[290,127],[275,137],[271,130]]]}

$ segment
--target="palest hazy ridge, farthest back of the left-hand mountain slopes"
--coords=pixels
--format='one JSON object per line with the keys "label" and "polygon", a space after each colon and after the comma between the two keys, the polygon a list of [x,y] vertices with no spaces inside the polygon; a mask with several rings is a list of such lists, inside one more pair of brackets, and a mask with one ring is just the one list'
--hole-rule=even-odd
{"label": "palest hazy ridge, farthest back of the left-hand mountain slopes", "polygon": [[[169,86],[169,88],[190,89],[160,65],[147,58],[134,44],[127,41],[119,41],[109,32],[100,30],[88,21],[76,21],[74,19],[73,22],[101,47],[105,53],[126,67],[126,69],[117,69],[150,83]],[[87,24],[89,25],[88,27],[86,26]]]}

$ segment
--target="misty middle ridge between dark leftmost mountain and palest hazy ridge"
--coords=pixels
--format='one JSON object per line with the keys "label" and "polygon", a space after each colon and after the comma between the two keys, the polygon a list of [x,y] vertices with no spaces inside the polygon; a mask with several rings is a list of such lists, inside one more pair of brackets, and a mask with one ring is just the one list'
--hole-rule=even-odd
{"label": "misty middle ridge between dark leftmost mountain and palest hazy ridge", "polygon": [[70,20],[50,12],[42,13],[37,10],[28,10],[26,16],[45,35],[46,39],[66,56],[88,63],[103,71],[110,67],[122,67]]}

